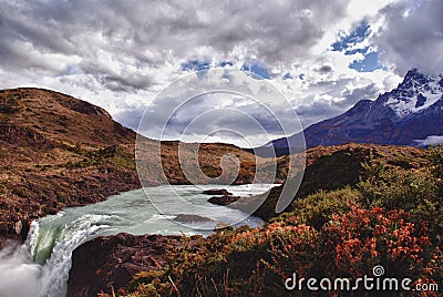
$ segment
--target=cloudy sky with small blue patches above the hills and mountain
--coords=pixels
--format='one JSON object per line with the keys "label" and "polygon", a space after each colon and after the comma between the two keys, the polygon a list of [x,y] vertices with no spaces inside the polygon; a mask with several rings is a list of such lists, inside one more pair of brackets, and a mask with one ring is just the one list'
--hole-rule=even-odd
{"label": "cloudy sky with small blue patches above the hills and mountain", "polygon": [[[442,16],[441,0],[0,0],[0,89],[60,91],[137,130],[144,113],[171,116],[162,113],[171,102],[158,94],[181,78],[244,70],[279,90],[307,127],[377,99],[412,68],[442,73]],[[245,106],[223,95],[198,104],[216,110],[226,102]],[[288,122],[292,115],[281,106],[277,117]],[[275,124],[259,109],[248,110],[264,126]],[[186,140],[223,130],[206,117],[199,122],[205,132],[192,131]],[[161,137],[155,121],[150,124],[148,136]],[[239,121],[237,132],[249,133],[248,125]],[[183,131],[168,137],[181,139]],[[208,140],[247,146],[235,134]]]}

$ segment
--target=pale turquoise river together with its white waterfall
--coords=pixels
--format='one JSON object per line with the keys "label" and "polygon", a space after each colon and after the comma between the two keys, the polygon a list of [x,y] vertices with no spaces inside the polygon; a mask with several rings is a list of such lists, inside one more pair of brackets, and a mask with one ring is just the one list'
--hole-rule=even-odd
{"label": "pale turquoise river together with its white waterfall", "polygon": [[[260,194],[272,185],[223,186],[234,195]],[[142,190],[112,196],[93,205],[66,208],[32,222],[27,242],[0,250],[0,297],[59,297],[66,295],[72,252],[99,235],[121,232],[132,234],[202,234],[209,235],[222,222],[240,221],[245,215],[236,209],[212,205],[200,192],[220,186],[159,186],[150,188],[150,195],[162,197],[167,214],[161,214]],[[177,203],[174,193],[195,205]],[[214,219],[195,223],[192,227],[172,221],[178,214],[194,214]],[[262,221],[248,217],[238,225],[258,227]]]}

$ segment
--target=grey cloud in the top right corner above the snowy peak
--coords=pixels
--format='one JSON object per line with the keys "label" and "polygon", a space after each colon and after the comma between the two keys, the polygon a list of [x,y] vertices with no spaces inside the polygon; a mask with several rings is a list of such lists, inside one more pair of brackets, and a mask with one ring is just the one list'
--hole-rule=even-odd
{"label": "grey cloud in the top right corner above the snowy peak", "polygon": [[382,59],[403,74],[411,68],[443,72],[443,1],[403,1],[384,9]]}

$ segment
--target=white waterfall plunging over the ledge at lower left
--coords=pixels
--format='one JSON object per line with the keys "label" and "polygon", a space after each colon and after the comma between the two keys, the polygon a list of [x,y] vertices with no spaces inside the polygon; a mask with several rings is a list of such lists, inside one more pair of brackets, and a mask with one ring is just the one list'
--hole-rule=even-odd
{"label": "white waterfall plunging over the ledge at lower left", "polygon": [[60,213],[34,221],[27,242],[0,252],[1,297],[66,295],[72,252],[104,231],[111,216],[85,214],[64,224]]}

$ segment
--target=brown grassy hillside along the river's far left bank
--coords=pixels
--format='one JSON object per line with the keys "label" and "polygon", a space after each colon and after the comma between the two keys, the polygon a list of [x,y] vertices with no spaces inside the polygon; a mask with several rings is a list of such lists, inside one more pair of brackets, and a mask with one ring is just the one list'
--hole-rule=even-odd
{"label": "brown grassy hillside along the river's far left bank", "polygon": [[[32,88],[0,91],[0,247],[4,238],[23,242],[35,218],[140,188],[135,141],[134,131],[85,101]],[[144,176],[144,185],[189,183],[179,166],[178,144],[162,143],[166,178],[154,172]],[[202,144],[200,165],[217,175],[227,153],[240,161],[235,183],[253,182],[256,157],[234,145]],[[158,156],[144,157],[146,164],[158,163]],[[280,171],[277,182],[284,176]]]}

